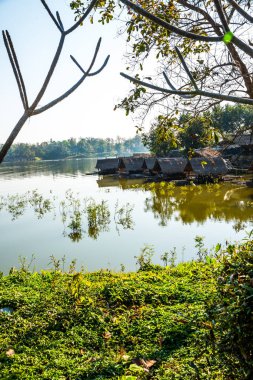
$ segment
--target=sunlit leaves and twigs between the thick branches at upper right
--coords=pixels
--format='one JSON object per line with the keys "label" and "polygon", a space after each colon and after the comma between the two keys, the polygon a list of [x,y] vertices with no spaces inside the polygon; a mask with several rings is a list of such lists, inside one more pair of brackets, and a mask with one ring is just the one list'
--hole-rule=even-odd
{"label": "sunlit leaves and twigs between the thick branches at upper right", "polygon": [[[88,1],[71,1],[71,7],[77,17],[79,17],[87,8]],[[178,28],[181,33],[191,32],[202,36],[219,36],[222,37],[223,31],[217,28],[214,20],[219,19],[220,15],[212,1],[203,0],[192,6],[191,2],[186,1],[162,1],[162,0],[140,0],[137,4],[146,11],[156,16],[171,26]],[[116,5],[119,5],[118,11]],[[237,25],[236,35],[245,35],[246,40],[250,37],[250,21],[240,17],[238,12],[234,12],[234,7],[229,2],[221,2],[221,12],[227,18],[228,28],[233,29],[233,25]],[[113,0],[100,0],[96,4],[96,17],[100,23],[107,23],[113,16],[118,18],[122,11],[121,2]],[[248,12],[249,5],[247,2],[242,2],[240,6]],[[192,73],[195,82],[199,88],[212,93],[214,89],[218,92],[227,94],[236,94],[240,96],[240,91],[250,95],[250,84],[247,83],[247,78],[250,76],[250,57],[246,55],[239,57],[233,48],[234,30],[227,31],[222,40],[223,43],[218,43],[219,49],[212,49],[212,42],[197,41],[194,38],[183,38],[177,32],[171,32],[164,27],[161,27],[156,22],[150,21],[132,11],[130,7],[126,7],[123,12],[125,26],[125,35],[128,47],[131,50],[127,54],[127,70],[135,69],[135,77],[141,78],[143,74],[144,80],[151,79],[150,62],[156,60],[157,71],[152,75],[153,83],[161,85],[161,73],[165,72],[170,78],[172,85],[178,83],[178,88],[181,90],[193,90],[192,83],[185,79],[185,73],[178,65],[178,57],[175,53],[175,46],[180,49],[183,57],[186,59],[187,66]],[[122,16],[122,14],[121,14]],[[93,17],[92,17],[93,22]],[[245,26],[245,23],[247,26]],[[122,32],[123,28],[121,28]],[[250,41],[249,41],[250,45]],[[238,47],[238,45],[237,45]],[[240,49],[240,48],[239,48]],[[225,70],[230,67],[231,70]],[[157,74],[158,73],[158,74]],[[148,75],[148,76],[146,76]],[[164,85],[164,83],[163,83]],[[238,90],[238,85],[241,88]],[[167,85],[166,85],[167,86]],[[142,91],[140,86],[135,84],[134,89],[120,102],[117,107],[125,109],[126,114],[140,110],[140,113],[145,115],[146,111],[158,105],[159,108],[164,106],[164,109],[170,110],[172,115],[177,115],[179,108],[188,110],[189,112],[200,113],[203,109],[208,109],[208,105],[215,104],[217,101],[213,99],[203,99],[193,97],[192,99],[178,100],[178,97],[169,97],[165,94],[154,93],[150,90]],[[208,103],[208,104],[207,104]],[[181,106],[180,106],[181,104]],[[142,111],[145,110],[145,113]]]}

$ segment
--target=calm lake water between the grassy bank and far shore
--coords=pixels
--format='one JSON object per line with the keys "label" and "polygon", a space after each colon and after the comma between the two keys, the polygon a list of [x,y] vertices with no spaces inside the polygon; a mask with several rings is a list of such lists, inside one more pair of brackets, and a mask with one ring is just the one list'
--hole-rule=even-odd
{"label": "calm lake water between the grassy bank and far shore", "polygon": [[77,259],[87,270],[136,269],[146,245],[153,262],[177,249],[178,260],[196,257],[195,236],[206,247],[238,241],[253,228],[253,189],[240,185],[171,188],[144,181],[87,175],[96,159],[0,166],[1,268],[35,255]]}

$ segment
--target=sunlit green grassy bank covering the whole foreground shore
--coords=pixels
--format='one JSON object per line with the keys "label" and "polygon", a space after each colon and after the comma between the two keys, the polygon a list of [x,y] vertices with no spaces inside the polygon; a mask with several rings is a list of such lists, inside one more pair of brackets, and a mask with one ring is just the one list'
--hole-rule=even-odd
{"label": "sunlit green grassy bank covering the whole foreground shore", "polygon": [[253,241],[137,273],[0,279],[1,379],[250,379]]}

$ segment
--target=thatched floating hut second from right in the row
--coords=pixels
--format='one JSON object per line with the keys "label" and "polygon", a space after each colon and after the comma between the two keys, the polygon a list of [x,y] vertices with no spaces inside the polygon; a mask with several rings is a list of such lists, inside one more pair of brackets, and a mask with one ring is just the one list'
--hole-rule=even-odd
{"label": "thatched floating hut second from right in the row", "polygon": [[154,172],[170,178],[185,178],[185,169],[188,160],[183,157],[178,158],[157,158],[154,165]]}

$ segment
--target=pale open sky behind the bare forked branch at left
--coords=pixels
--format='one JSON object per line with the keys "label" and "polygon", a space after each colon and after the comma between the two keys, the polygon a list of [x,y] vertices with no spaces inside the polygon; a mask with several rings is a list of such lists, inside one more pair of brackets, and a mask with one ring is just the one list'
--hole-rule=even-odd
{"label": "pale open sky behind the bare forked branch at left", "polygon": [[[74,22],[68,0],[47,0],[50,9],[58,10],[65,28]],[[26,83],[30,103],[39,90],[55,53],[60,33],[39,0],[0,0],[1,30],[8,30]],[[97,40],[102,36],[96,68],[105,57],[111,58],[104,71],[86,79],[79,89],[60,104],[38,116],[23,127],[16,142],[41,142],[70,137],[131,137],[134,121],[122,110],[113,111],[131,85],[119,72],[125,71],[123,54],[125,40],[117,37],[117,23],[84,26],[70,34],[49,88],[40,105],[61,95],[81,76],[69,55],[85,69],[92,58]],[[0,40],[0,142],[4,142],[23,113],[14,75],[2,39]]]}

